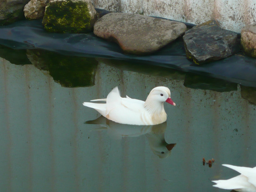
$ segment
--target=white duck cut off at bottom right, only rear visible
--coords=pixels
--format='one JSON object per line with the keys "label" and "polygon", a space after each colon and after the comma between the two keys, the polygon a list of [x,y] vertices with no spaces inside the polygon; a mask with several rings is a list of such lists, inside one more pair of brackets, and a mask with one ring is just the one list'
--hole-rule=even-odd
{"label": "white duck cut off at bottom right, only rear visible", "polygon": [[238,192],[256,192],[256,167],[238,167],[227,164],[223,164],[223,166],[236,170],[241,173],[241,175],[228,180],[212,181],[216,183],[216,185],[213,185],[214,187],[221,189],[233,189]]}

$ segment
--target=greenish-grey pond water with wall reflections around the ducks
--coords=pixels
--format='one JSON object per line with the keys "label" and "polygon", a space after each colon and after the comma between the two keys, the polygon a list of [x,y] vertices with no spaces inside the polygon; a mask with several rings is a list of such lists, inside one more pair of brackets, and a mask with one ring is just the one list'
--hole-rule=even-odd
{"label": "greenish-grey pond water with wall reflections around the ducks", "polygon": [[[0,191],[224,192],[211,180],[238,173],[222,164],[256,166],[254,88],[122,60],[1,53]],[[165,104],[166,123],[133,126],[82,105],[116,86],[141,100],[166,86],[176,106]]]}

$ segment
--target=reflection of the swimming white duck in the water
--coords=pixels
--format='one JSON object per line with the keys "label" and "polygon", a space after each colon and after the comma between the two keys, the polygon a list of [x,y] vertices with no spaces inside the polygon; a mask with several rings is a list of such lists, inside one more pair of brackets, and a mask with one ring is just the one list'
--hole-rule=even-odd
{"label": "reflection of the swimming white duck in the water", "polygon": [[101,125],[101,127],[93,130],[107,130],[112,139],[145,135],[151,150],[159,158],[169,157],[172,148],[176,145],[176,143],[168,144],[165,141],[164,134],[167,126],[166,122],[158,125],[127,125],[116,123],[100,116],[95,120],[86,121],[85,123]]}

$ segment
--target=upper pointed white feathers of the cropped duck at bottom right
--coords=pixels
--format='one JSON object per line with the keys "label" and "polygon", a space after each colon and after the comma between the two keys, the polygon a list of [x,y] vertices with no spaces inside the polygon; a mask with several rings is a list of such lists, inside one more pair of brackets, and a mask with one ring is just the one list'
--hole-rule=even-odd
{"label": "upper pointed white feathers of the cropped duck at bottom right", "polygon": [[248,178],[248,182],[253,184],[256,188],[256,167],[251,168],[251,167],[239,167],[239,166],[234,166],[234,165],[227,165],[223,164],[223,166],[229,167],[230,169],[233,169],[242,175],[246,176]]}

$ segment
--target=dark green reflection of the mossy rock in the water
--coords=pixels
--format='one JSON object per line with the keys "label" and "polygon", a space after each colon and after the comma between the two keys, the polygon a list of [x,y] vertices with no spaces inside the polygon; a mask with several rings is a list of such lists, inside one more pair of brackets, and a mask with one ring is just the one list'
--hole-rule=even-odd
{"label": "dark green reflection of the mossy rock in the water", "polygon": [[94,58],[65,56],[39,49],[28,49],[27,58],[35,67],[49,71],[63,87],[88,87],[95,83],[98,61]]}

